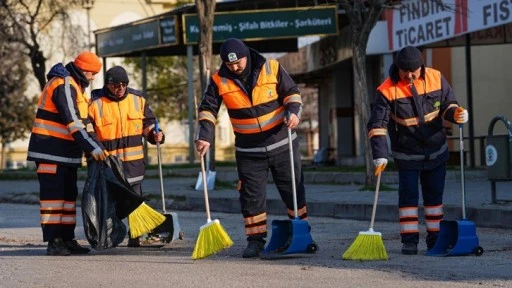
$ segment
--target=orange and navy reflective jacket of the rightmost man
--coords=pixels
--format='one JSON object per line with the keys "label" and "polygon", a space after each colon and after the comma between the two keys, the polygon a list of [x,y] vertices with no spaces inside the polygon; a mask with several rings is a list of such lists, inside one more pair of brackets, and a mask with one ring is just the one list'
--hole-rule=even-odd
{"label": "orange and navy reflective jacket of the rightmost man", "polygon": [[399,168],[431,169],[448,159],[443,119],[455,122],[457,105],[452,88],[441,72],[422,68],[421,77],[410,86],[400,81],[392,65],[378,88],[368,122],[373,158],[388,158],[386,135]]}

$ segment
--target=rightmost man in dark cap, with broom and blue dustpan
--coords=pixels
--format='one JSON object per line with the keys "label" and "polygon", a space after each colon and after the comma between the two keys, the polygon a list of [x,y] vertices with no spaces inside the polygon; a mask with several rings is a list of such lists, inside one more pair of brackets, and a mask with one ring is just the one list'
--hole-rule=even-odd
{"label": "rightmost man in dark cap, with broom and blue dustpan", "polygon": [[375,175],[384,171],[388,162],[386,135],[391,142],[398,168],[403,254],[418,253],[418,183],[422,188],[427,250],[437,241],[449,156],[443,119],[461,125],[468,121],[468,112],[458,105],[441,72],[425,67],[417,48],[403,48],[389,69],[389,77],[377,88],[367,127]]}

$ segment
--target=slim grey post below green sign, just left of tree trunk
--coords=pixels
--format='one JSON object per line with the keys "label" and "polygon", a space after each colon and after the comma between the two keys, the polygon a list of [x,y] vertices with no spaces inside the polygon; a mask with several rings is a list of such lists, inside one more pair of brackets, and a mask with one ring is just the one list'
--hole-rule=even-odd
{"label": "slim grey post below green sign, just left of tree trunk", "polygon": [[[192,45],[187,45],[187,73],[188,73],[188,163],[194,163],[194,55]],[[206,183],[206,182],[205,182]]]}

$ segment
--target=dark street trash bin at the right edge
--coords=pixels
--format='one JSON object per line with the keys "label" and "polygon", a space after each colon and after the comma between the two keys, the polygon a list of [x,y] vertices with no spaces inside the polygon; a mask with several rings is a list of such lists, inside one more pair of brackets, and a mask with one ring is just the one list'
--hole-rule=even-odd
{"label": "dark street trash bin at the right edge", "polygon": [[[508,134],[493,135],[498,121],[505,123]],[[492,202],[496,202],[496,181],[512,180],[512,124],[505,116],[496,116],[489,124],[485,146],[487,175],[491,181]]]}

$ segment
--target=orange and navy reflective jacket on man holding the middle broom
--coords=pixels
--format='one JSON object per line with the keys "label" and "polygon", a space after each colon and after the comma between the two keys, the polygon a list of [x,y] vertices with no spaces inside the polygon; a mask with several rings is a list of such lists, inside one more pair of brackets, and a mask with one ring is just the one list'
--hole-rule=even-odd
{"label": "orange and navy reflective jacket on man holding the middle broom", "polygon": [[[212,75],[212,83],[199,108],[201,124],[199,139],[213,138],[209,133],[214,133],[215,112],[218,112],[222,101],[226,105],[236,136],[237,152],[252,155],[279,153],[286,150],[288,145],[287,128],[283,124],[285,113],[291,111],[300,117],[301,96],[289,75],[283,76],[286,72],[280,68],[276,60],[266,60],[257,53],[251,54],[251,57],[252,67],[261,68],[253,70],[251,76],[255,79],[250,91],[246,90],[249,88],[239,79],[223,76],[221,73],[223,67]],[[212,90],[214,92],[211,92]],[[212,94],[209,94],[209,91]],[[214,107],[205,105],[210,104],[209,102],[213,103]],[[210,122],[210,124],[206,125],[204,122]],[[209,128],[207,132],[203,130],[205,128]],[[202,138],[201,134],[205,138]],[[294,139],[297,137],[296,133],[293,133],[293,137]]]}

